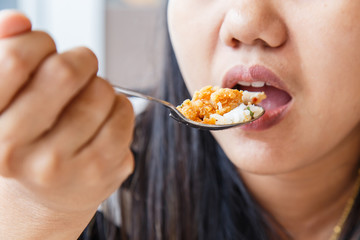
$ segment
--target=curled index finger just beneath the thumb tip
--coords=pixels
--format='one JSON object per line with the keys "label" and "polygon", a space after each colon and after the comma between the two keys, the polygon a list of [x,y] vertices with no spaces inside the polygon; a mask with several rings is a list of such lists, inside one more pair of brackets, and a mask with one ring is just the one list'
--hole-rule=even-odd
{"label": "curled index finger just beneath the thumb tip", "polygon": [[36,67],[54,52],[55,43],[44,32],[0,40],[0,112],[26,84]]}

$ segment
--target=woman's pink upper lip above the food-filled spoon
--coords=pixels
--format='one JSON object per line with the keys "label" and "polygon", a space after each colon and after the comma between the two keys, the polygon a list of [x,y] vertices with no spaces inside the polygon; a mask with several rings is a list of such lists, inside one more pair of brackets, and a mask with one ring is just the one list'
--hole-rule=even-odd
{"label": "woman's pink upper lip above the food-filled spoon", "polygon": [[288,92],[287,86],[271,70],[261,65],[232,67],[222,80],[223,88],[233,88],[238,82],[265,82],[273,87]]}

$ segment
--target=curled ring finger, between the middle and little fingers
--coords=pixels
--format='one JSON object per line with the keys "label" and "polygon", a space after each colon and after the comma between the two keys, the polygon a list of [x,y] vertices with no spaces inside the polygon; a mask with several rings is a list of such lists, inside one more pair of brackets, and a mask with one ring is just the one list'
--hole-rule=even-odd
{"label": "curled ring finger, between the middle and little fingers", "polygon": [[61,114],[60,120],[39,139],[42,149],[58,152],[69,158],[89,142],[109,116],[115,102],[113,88],[96,77]]}

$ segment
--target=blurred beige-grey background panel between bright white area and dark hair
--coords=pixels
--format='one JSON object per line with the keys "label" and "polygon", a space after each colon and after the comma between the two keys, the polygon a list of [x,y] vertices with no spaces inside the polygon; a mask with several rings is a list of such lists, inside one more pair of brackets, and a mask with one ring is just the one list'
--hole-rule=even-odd
{"label": "blurred beige-grey background panel between bright white area and dark hair", "polygon": [[106,74],[111,82],[135,89],[157,84],[164,40],[161,15],[159,6],[107,6]]}

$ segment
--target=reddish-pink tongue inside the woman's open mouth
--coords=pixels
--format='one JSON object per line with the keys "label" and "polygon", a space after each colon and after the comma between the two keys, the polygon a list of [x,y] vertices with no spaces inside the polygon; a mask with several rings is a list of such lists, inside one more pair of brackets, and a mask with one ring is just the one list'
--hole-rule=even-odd
{"label": "reddish-pink tongue inside the woman's open mouth", "polygon": [[276,109],[287,104],[291,100],[291,96],[287,92],[272,86],[264,86],[260,88],[241,86],[241,90],[251,92],[265,92],[266,99],[259,104],[265,108],[265,110]]}

